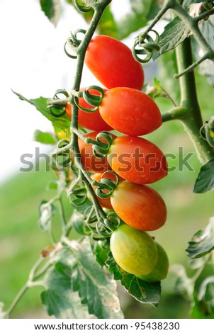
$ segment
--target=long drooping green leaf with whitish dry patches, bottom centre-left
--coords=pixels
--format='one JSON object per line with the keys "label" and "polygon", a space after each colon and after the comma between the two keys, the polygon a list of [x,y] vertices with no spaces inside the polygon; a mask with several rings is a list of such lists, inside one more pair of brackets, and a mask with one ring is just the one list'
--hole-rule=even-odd
{"label": "long drooping green leaf with whitish dry patches, bottom centre-left", "polygon": [[69,246],[77,259],[72,271],[72,288],[78,290],[81,302],[89,308],[89,313],[98,318],[123,318],[116,291],[116,282],[106,269],[96,262],[88,237]]}

